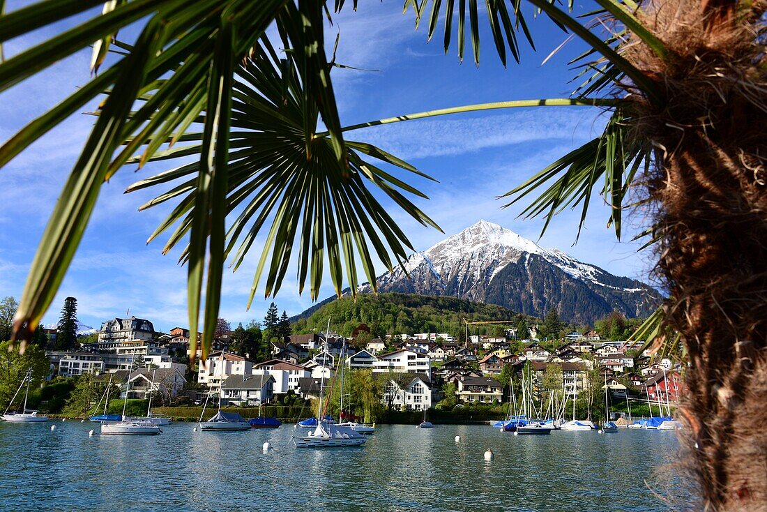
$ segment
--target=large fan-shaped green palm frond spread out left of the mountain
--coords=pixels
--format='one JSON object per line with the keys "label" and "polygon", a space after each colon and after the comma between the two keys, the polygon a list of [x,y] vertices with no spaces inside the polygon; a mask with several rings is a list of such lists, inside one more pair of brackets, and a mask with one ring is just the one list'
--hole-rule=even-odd
{"label": "large fan-shaped green palm frond spread out left of the mountain", "polygon": [[[200,156],[199,162],[166,170],[133,183],[127,190],[160,187],[181,180],[143,208],[169,200],[179,201],[150,238],[175,226],[163,251],[179,244],[183,246],[180,259],[189,265],[190,323],[196,310],[199,311],[204,268],[200,263],[204,260],[204,243],[208,237],[209,257],[219,254],[221,259],[209,263],[206,301],[218,296],[220,282],[211,284],[210,279],[214,274],[220,279],[221,273],[216,269],[223,259],[229,259],[232,269],[238,269],[252,250],[256,237],[265,235],[253,277],[250,305],[262,285],[265,296],[278,292],[292,261],[296,263],[299,291],[308,285],[312,299],[318,298],[325,263],[329,265],[331,281],[339,295],[344,282],[353,293],[356,292],[358,264],[367,280],[374,283],[376,258],[387,269],[403,263],[408,249],[413,250],[413,246],[371,188],[383,191],[420,223],[439,229],[405,195],[425,197],[423,193],[374,162],[378,160],[420,177],[425,176],[423,173],[373,145],[347,142],[340,135],[334,137],[327,132],[318,133],[320,116],[329,127],[331,111],[328,109],[334,110],[335,105],[331,103],[332,86],[328,74],[319,79],[329,92],[325,97],[317,94],[318,70],[327,70],[327,61],[324,53],[315,51],[314,45],[301,44],[311,39],[304,31],[313,26],[311,19],[306,21],[307,15],[300,15],[298,9],[301,6],[286,5],[277,18],[281,44],[288,50],[284,55],[279,55],[267,38],[261,38],[252,45],[248,58],[235,67],[229,116],[231,127],[227,138],[229,147],[225,153],[222,153],[223,148],[216,147],[216,157],[220,154],[225,161],[217,160],[212,173],[206,170],[211,168],[210,144],[215,142],[209,137],[208,129],[209,111],[214,108],[210,92],[204,111],[196,111],[189,130],[183,130],[180,135],[175,125],[156,130],[154,139],[144,133],[156,117],[182,117],[181,114],[176,117],[164,114],[166,100],[156,100],[159,91],[149,91],[144,107],[134,111],[135,117],[130,121],[138,133],[126,133],[126,147],[140,147],[143,152],[127,158],[127,163]],[[311,15],[316,20],[321,11],[315,9]],[[313,37],[321,40],[321,34]],[[147,107],[150,104],[151,107]],[[179,113],[181,110],[183,106],[174,107],[173,111]],[[184,117],[188,116],[184,114]],[[133,124],[137,120],[142,124]],[[196,131],[200,124],[205,128],[202,132]],[[337,133],[341,130],[337,129]],[[156,141],[162,144],[155,144]],[[170,147],[170,142],[176,144]],[[340,158],[337,155],[339,147],[342,150]],[[124,156],[121,153],[117,158]],[[228,170],[227,180],[222,185],[225,190],[216,189],[219,193],[213,200],[213,180],[221,168]],[[215,223],[202,222],[206,218],[212,221],[214,214],[218,219]],[[223,229],[224,216],[231,217],[228,230]],[[215,246],[214,237],[222,237],[216,238]],[[206,307],[206,322],[207,312]],[[206,343],[208,341],[203,339],[203,351]]]}

